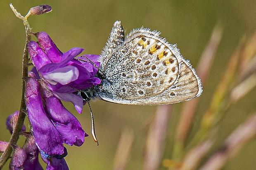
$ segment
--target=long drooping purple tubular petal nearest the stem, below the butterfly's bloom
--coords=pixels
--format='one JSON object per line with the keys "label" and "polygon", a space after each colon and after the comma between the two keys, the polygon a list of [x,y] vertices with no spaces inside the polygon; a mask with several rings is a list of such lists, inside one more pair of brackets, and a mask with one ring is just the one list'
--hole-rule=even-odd
{"label": "long drooping purple tubular petal nearest the stem, below the butterfly's bloom", "polygon": [[63,142],[59,132],[48,119],[43,108],[39,84],[33,77],[26,78],[26,105],[28,119],[36,144],[45,154],[63,154]]}

